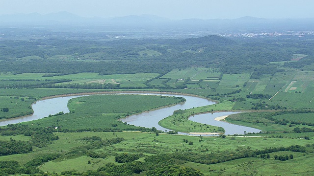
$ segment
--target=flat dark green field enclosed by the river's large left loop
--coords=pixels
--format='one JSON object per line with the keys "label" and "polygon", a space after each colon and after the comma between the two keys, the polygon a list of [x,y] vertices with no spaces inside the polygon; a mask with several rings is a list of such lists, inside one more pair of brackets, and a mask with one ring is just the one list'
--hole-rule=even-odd
{"label": "flat dark green field enclosed by the river's large left loop", "polygon": [[[72,113],[46,117],[24,122],[32,127],[59,127],[59,129],[90,131],[139,130],[118,119],[146,110],[177,104],[183,100],[177,97],[148,95],[93,95],[71,99],[68,103]],[[145,128],[144,128],[145,129]]]}

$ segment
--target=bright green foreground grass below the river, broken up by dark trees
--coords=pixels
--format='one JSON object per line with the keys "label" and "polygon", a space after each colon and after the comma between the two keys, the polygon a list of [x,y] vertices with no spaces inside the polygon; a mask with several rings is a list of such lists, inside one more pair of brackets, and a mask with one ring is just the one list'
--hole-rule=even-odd
{"label": "bright green foreground grass below the river, broken up by dark trees", "polygon": [[[78,156],[71,158],[63,158],[62,160],[57,159],[49,161],[39,168],[43,172],[49,171],[50,173],[56,172],[61,173],[62,171],[77,170],[78,172],[86,170],[97,170],[98,167],[105,165],[105,163],[114,161],[114,155],[117,153],[142,153],[144,155],[160,154],[160,153],[173,153],[173,152],[196,152],[199,154],[210,154],[211,152],[218,151],[230,151],[241,148],[251,148],[252,150],[262,150],[269,147],[288,147],[290,145],[301,145],[304,146],[308,143],[313,144],[313,140],[304,139],[290,139],[290,138],[263,138],[263,137],[233,137],[229,136],[224,138],[221,137],[203,137],[199,136],[184,136],[184,135],[169,135],[159,134],[156,136],[155,133],[143,133],[143,132],[67,132],[67,133],[56,133],[59,139],[53,141],[45,148],[35,148],[32,153],[29,154],[16,154],[10,156],[0,156],[0,160],[17,160],[20,164],[24,164],[27,161],[41,154],[48,154],[57,152],[65,154],[72,148],[86,145],[83,143],[81,138],[100,136],[102,139],[111,139],[115,137],[123,137],[125,141],[114,144],[111,146],[97,149],[97,153],[106,153],[109,156],[105,159],[102,158],[91,158],[88,156]],[[2,140],[3,136],[0,136]],[[193,145],[188,145],[184,140],[192,141]],[[201,139],[201,142],[199,142]],[[207,150],[205,150],[207,149]],[[293,154],[294,159],[288,161],[274,160],[273,155],[286,155]],[[242,158],[224,163],[204,165],[200,163],[188,162],[183,164],[186,167],[193,167],[199,169],[205,175],[236,175],[238,173],[247,173],[248,169],[257,168],[259,174],[273,175],[278,171],[278,168],[283,168],[283,172],[288,174],[288,167],[296,164],[298,168],[302,166],[308,166],[305,170],[294,170],[295,173],[313,172],[310,164],[313,162],[313,154],[301,154],[293,152],[276,152],[270,154],[270,159],[261,158]],[[91,164],[87,164],[88,160]],[[253,163],[249,163],[253,161]],[[286,166],[288,164],[288,166]],[[243,165],[243,166],[242,166]],[[300,166],[299,166],[300,165]],[[271,166],[271,167],[270,167]],[[239,170],[238,170],[239,169]],[[245,170],[244,170],[245,169]]]}

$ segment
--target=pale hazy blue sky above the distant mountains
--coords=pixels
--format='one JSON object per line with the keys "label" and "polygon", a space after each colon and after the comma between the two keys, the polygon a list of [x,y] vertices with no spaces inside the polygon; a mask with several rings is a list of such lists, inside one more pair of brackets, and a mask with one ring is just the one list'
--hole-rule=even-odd
{"label": "pale hazy blue sky above the distant mountains", "polygon": [[314,18],[314,0],[0,0],[0,15],[67,11],[82,17]]}

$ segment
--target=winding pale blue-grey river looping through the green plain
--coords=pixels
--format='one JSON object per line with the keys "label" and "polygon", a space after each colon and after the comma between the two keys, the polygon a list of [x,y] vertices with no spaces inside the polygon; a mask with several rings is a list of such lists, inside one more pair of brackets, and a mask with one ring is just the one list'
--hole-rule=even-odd
{"label": "winding pale blue-grey river looping through the green plain", "polygon": [[[165,129],[158,125],[158,122],[162,120],[165,117],[168,117],[169,115],[172,115],[175,110],[185,110],[185,109],[191,109],[201,106],[207,106],[215,104],[215,102],[210,101],[205,98],[195,97],[195,96],[187,96],[187,95],[177,95],[177,94],[159,94],[159,93],[117,93],[117,94],[142,94],[142,95],[163,95],[163,96],[180,96],[185,98],[184,103],[180,103],[174,106],[165,107],[157,110],[151,110],[147,112],[142,112],[140,114],[131,115],[127,118],[121,119],[123,122],[127,122],[128,124],[135,125],[135,126],[141,126],[146,128],[152,128],[155,127],[157,130],[161,131],[169,131],[168,129]],[[63,111],[64,113],[69,112],[69,109],[67,108],[67,103],[70,99],[80,97],[80,96],[86,96],[86,95],[77,95],[77,96],[66,96],[66,97],[56,97],[51,99],[45,99],[37,101],[36,103],[32,104],[32,109],[34,110],[34,113],[29,116],[24,117],[17,117],[13,119],[7,119],[0,121],[0,126],[5,126],[8,124],[16,124],[21,122],[27,122],[32,120],[41,119],[44,117],[49,116],[50,114],[56,114],[60,111]],[[229,115],[234,112],[225,112],[222,115]],[[215,114],[214,116],[212,116]],[[218,121],[212,121],[209,122],[207,120],[214,119],[215,116],[222,116],[218,113],[208,113],[208,114],[199,114],[195,115],[193,117],[190,117],[190,120],[200,122],[200,123],[206,123],[209,125],[214,126],[220,126],[225,128],[226,134],[242,134],[244,131],[246,132],[259,132],[257,129],[247,129],[248,127],[243,126],[237,126],[233,124],[229,124],[226,122],[218,122]],[[205,121],[203,121],[205,119]],[[216,124],[216,122],[220,124]],[[227,124],[227,127],[224,127],[223,125]],[[238,129],[237,131],[228,131],[228,129]],[[186,134],[186,133],[181,133]]]}

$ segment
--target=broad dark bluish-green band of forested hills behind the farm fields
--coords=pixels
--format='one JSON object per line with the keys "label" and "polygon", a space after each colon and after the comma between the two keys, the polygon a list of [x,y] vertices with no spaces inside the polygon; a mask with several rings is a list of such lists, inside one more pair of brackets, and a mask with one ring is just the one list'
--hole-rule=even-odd
{"label": "broad dark bluish-green band of forested hills behind the farm fields", "polygon": [[[54,33],[52,33],[54,34]],[[225,38],[205,36],[188,39],[88,40],[89,34],[77,40],[49,35],[0,40],[0,71],[19,73],[97,72],[127,74],[137,72],[165,73],[189,66],[219,67],[224,73],[249,72],[274,74],[280,71],[270,62],[285,62],[293,54],[303,54],[295,64],[313,63],[314,41],[289,37]],[[32,33],[33,35],[33,33]],[[65,35],[65,34],[64,34]],[[71,35],[71,34],[69,34]],[[104,36],[105,38],[105,36]]]}

